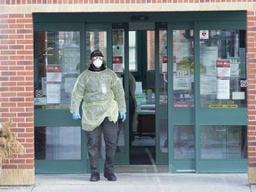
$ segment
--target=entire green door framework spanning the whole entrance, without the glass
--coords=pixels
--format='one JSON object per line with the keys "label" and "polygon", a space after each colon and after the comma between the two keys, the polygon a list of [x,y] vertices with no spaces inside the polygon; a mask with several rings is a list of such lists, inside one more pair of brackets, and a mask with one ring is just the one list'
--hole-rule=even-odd
{"label": "entire green door framework spanning the whole entrance, without the glass", "polygon": [[[90,15],[89,13],[86,13],[86,15]],[[107,14],[107,13],[106,13]],[[117,22],[120,22],[121,17],[115,17],[115,15],[111,14],[108,17],[106,17],[105,13],[101,13],[99,17],[95,17],[98,24],[89,24],[89,23],[84,23],[84,21],[89,20],[86,18],[88,17],[82,17],[82,13],[75,13],[72,14],[74,17],[63,17],[63,15],[66,15],[64,13],[50,13],[49,16],[46,15],[46,17],[42,17],[40,20],[38,18],[41,16],[40,13],[34,14],[33,18],[36,18],[36,23],[34,24],[34,30],[36,31],[80,31],[80,38],[81,38],[81,52],[80,52],[80,57],[81,57],[81,63],[85,63],[85,28],[86,29],[106,29],[108,31],[108,47],[112,47],[112,33],[111,30],[112,28],[112,22],[115,22],[115,19]],[[120,14],[120,13],[116,13]],[[123,13],[124,14],[124,13]],[[131,13],[131,15],[134,13]],[[137,13],[136,13],[137,14]],[[180,28],[179,26],[190,26],[192,25],[192,29],[194,29],[194,42],[195,42],[195,63],[199,63],[199,30],[200,29],[244,29],[246,30],[246,13],[244,12],[212,12],[211,15],[208,15],[207,12],[198,12],[198,13],[193,13],[193,12],[164,12],[163,17],[160,16],[159,12],[157,13],[150,13],[148,12],[148,15],[156,15],[156,17],[149,17],[149,18],[156,18],[156,20],[153,20],[156,22],[156,51],[155,51],[155,56],[156,56],[156,90],[159,90],[159,79],[157,78],[159,76],[159,28],[164,28],[162,26],[162,23],[168,23],[167,28],[168,31],[168,39],[172,39],[172,30],[175,28]],[[57,17],[52,16],[57,15]],[[92,13],[92,15],[95,15]],[[98,13],[97,13],[98,15]],[[173,17],[173,15],[179,15],[179,17]],[[245,15],[245,16],[244,16]],[[45,15],[44,15],[45,16]],[[127,13],[127,18],[122,19],[124,22],[128,23],[129,18],[130,18],[130,13]],[[168,17],[167,17],[168,16]],[[227,17],[226,17],[227,16]],[[84,19],[85,18],[85,19]],[[115,19],[114,19],[115,18]],[[203,19],[204,18],[204,19]],[[226,21],[221,21],[223,20]],[[76,20],[77,19],[77,20]],[[68,20],[68,22],[66,22]],[[76,21],[74,21],[76,20]],[[101,20],[101,21],[100,21]],[[111,20],[111,21],[109,21]],[[175,21],[178,20],[180,23],[177,22],[169,22],[169,21]],[[196,21],[194,21],[196,20]],[[163,21],[163,22],[162,22]],[[107,22],[107,23],[106,23]],[[185,22],[185,25],[182,24]],[[104,24],[100,24],[104,23]],[[187,23],[187,24],[186,24]],[[106,25],[105,25],[106,24]],[[181,25],[180,25],[181,24]],[[91,26],[91,27],[90,27]],[[123,27],[122,27],[123,28]],[[189,27],[190,28],[190,27]],[[183,28],[182,28],[183,29]],[[129,47],[128,44],[128,26],[124,26],[124,31],[125,31],[125,46]],[[168,41],[168,47],[172,48],[172,41]],[[35,45],[36,48],[36,45]],[[36,53],[36,49],[35,49]],[[112,49],[108,49],[107,51],[108,55],[112,55]],[[36,55],[36,54],[35,54]],[[172,52],[168,53],[168,58],[172,58]],[[172,60],[168,60],[168,66],[172,66],[171,63]],[[129,63],[129,50],[125,50],[125,68],[127,67]],[[108,57],[107,60],[108,63],[108,68],[112,68],[112,57]],[[83,70],[84,65],[81,65],[81,69]],[[36,68],[35,68],[36,69]],[[157,103],[157,100],[159,100],[159,92],[156,92],[156,163],[157,164],[168,164],[169,166],[169,171],[170,172],[175,172],[175,170],[172,169],[172,164],[175,163],[173,160],[172,152],[173,152],[173,146],[172,146],[172,138],[173,138],[173,125],[174,124],[179,124],[179,122],[176,121],[173,115],[175,116],[182,116],[182,114],[185,111],[180,110],[178,113],[175,111],[175,108],[172,108],[172,102],[173,100],[173,91],[172,91],[172,84],[173,84],[173,79],[172,79],[172,68],[168,70],[168,107],[165,107],[163,105],[159,105]],[[201,125],[214,125],[215,121],[214,119],[210,118],[210,116],[216,116],[215,118],[218,118],[219,124],[223,125],[247,125],[247,108],[236,108],[236,109],[209,109],[209,108],[200,108],[200,78],[199,78],[199,65],[195,65],[195,108],[194,108],[194,116],[188,116],[188,119],[186,120],[185,124],[195,124],[195,132],[196,132],[196,162],[195,164],[191,162],[185,162],[186,164],[191,165],[191,170],[194,169],[196,172],[232,172],[231,167],[236,166],[239,164],[242,169],[240,172],[244,172],[244,169],[246,167],[247,169],[247,160],[239,160],[239,161],[228,161],[228,160],[202,160],[200,159],[200,126]],[[124,76],[128,76],[128,70],[124,70]],[[127,81],[126,81],[127,82]],[[128,91],[128,84],[124,84],[124,90],[125,92]],[[126,95],[127,97],[127,95]],[[127,99],[126,99],[127,102]],[[128,103],[128,102],[127,102]],[[232,113],[236,110],[236,113]],[[188,111],[187,111],[188,112]],[[187,113],[186,112],[186,113]],[[224,119],[222,114],[229,113],[230,116],[228,116],[228,120]],[[235,115],[236,114],[236,115]],[[44,118],[42,118],[44,116]],[[52,116],[56,117],[52,121],[46,122],[44,119],[52,119]],[[66,118],[70,117],[70,113],[68,109],[35,109],[35,126],[80,126],[80,121],[73,121],[72,118]],[[242,118],[236,118],[236,116],[243,116]],[[160,137],[159,137],[159,120],[160,119],[167,119],[168,118],[168,154],[164,154],[160,152]],[[56,119],[60,119],[56,121]],[[128,122],[129,119],[126,120]],[[60,122],[60,123],[59,123]],[[125,124],[125,129],[127,130],[127,123]],[[85,146],[85,136],[84,133],[82,133],[82,146]],[[125,143],[128,143],[127,140],[128,134],[125,135]],[[125,150],[128,152],[125,155],[117,155],[116,156],[116,164],[129,164],[129,148],[125,147]],[[36,160],[36,173],[83,173],[83,172],[88,172],[88,164],[84,163],[86,159],[86,153],[84,149],[82,150],[82,160],[81,161],[41,161],[41,160]],[[212,164],[221,164],[220,169],[212,170]],[[180,164],[179,162],[176,162],[177,166],[179,167]],[[176,164],[175,163],[175,164]],[[179,165],[180,164],[180,165]],[[243,164],[241,166],[241,164]],[[229,168],[227,168],[227,165]],[[47,166],[47,169],[45,167]],[[186,165],[187,166],[187,165]],[[63,169],[65,167],[65,169]],[[185,169],[188,169],[189,167],[185,167]],[[239,170],[236,172],[239,172]]]}

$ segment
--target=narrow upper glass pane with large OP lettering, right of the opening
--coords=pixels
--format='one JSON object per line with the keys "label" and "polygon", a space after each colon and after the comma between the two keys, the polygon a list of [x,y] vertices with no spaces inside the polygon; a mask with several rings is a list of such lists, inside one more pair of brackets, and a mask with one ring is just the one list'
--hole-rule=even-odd
{"label": "narrow upper glass pane with large OP lettering, right of the opening", "polygon": [[194,107],[193,30],[173,30],[173,104]]}

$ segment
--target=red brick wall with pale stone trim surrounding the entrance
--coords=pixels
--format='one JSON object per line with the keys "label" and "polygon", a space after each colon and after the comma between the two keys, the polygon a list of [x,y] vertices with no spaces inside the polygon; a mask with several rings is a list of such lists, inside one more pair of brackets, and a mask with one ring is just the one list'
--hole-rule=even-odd
{"label": "red brick wall with pale stone trim surrounding the entrance", "polygon": [[[104,4],[99,6],[98,4]],[[33,185],[33,25],[32,12],[179,12],[248,11],[248,173],[256,183],[256,3],[252,0],[0,0],[0,121],[12,120],[12,131],[25,147],[3,165],[2,185]]]}

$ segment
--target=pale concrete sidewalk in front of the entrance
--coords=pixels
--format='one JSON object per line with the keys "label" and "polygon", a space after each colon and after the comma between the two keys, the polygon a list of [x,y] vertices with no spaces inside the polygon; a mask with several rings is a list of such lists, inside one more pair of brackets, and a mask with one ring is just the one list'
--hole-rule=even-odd
{"label": "pale concrete sidewalk in front of the entrance", "polygon": [[4,192],[256,192],[247,173],[116,173],[117,181],[90,182],[85,175],[36,175],[34,186],[0,187]]}

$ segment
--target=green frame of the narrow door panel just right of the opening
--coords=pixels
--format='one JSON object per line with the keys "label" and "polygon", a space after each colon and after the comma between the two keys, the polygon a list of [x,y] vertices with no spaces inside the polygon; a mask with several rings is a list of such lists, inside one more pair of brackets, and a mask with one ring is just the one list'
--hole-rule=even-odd
{"label": "green frame of the narrow door panel just right of the opening", "polygon": [[[168,51],[168,147],[169,172],[195,172],[195,159],[174,159],[174,125],[195,124],[195,108],[174,108],[173,105],[173,30],[193,29],[192,22],[170,22],[167,26]],[[194,56],[195,57],[195,56]]]}

